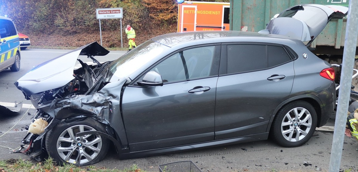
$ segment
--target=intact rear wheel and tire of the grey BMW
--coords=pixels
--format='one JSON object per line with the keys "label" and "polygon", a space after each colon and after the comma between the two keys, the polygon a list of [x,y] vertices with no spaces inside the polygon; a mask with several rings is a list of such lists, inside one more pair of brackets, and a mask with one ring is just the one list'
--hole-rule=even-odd
{"label": "intact rear wheel and tire of the grey BMW", "polygon": [[317,114],[313,106],[299,100],[286,104],[277,113],[270,136],[284,147],[297,147],[306,143],[317,126]]}

